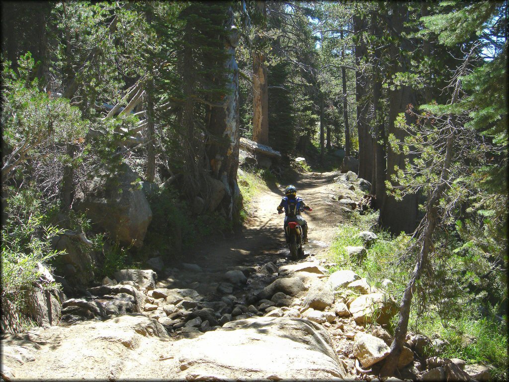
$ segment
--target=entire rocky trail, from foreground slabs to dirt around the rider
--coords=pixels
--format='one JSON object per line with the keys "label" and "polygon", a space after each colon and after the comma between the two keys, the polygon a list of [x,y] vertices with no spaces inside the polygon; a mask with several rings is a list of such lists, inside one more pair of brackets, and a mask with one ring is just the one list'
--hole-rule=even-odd
{"label": "entire rocky trail, from foreground slabs to dirt around the rider", "polygon": [[[375,381],[392,341],[384,326],[397,303],[354,270],[329,275],[331,264],[319,256],[343,209],[352,208],[340,201],[359,199],[353,191],[361,184],[337,173],[297,183],[316,210],[306,216],[312,243],[298,262],[284,258],[281,218],[273,213],[280,196],[268,193],[243,237],[202,248],[189,263],[152,259],[156,271],[125,269],[105,278],[62,304],[60,325],[4,336],[3,379]],[[362,249],[378,239],[360,235]],[[489,375],[461,360],[422,359],[435,345],[410,334],[399,377]]]}

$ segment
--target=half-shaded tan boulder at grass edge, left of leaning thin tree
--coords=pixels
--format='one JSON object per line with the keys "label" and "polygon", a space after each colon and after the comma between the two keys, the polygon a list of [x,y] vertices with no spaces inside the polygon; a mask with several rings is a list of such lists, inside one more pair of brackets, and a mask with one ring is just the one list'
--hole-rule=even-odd
{"label": "half-shaded tan boulder at grass edge, left of leaning thin tree", "polygon": [[354,299],[348,309],[357,324],[377,322],[386,325],[398,313],[397,303],[382,293],[363,294]]}

